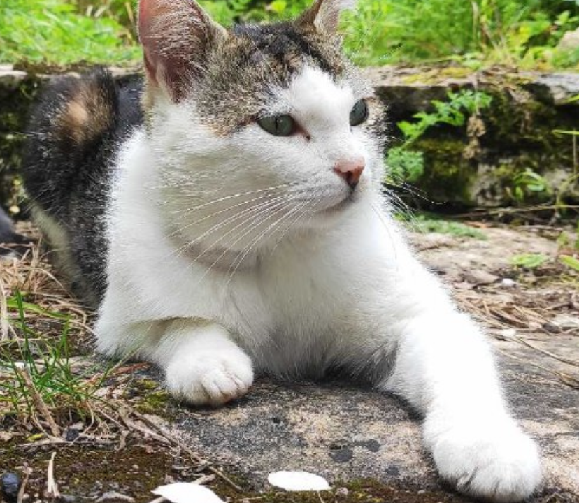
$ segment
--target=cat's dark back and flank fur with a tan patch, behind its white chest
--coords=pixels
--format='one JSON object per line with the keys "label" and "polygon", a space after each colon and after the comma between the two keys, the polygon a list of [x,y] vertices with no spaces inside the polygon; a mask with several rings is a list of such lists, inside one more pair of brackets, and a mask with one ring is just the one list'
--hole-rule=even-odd
{"label": "cat's dark back and flank fur with a tan patch, behind its white chest", "polygon": [[[24,186],[35,205],[69,236],[81,277],[77,293],[102,300],[106,290],[104,213],[111,166],[122,142],[143,122],[141,80],[118,85],[108,71],[53,81],[31,116]],[[84,110],[84,112],[83,112]]]}

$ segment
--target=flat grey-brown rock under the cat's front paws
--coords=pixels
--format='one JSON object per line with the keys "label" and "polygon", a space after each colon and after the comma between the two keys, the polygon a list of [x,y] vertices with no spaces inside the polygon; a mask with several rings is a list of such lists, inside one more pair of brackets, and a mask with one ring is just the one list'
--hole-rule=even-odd
{"label": "flat grey-brown rock under the cat's front paws", "polygon": [[[524,362],[531,358],[515,342],[497,345]],[[501,370],[515,416],[543,449],[545,494],[564,490],[579,497],[579,393],[524,362],[502,360]],[[272,416],[283,421],[273,423]],[[414,412],[392,396],[350,384],[262,380],[224,409],[181,411],[173,429],[192,449],[258,487],[270,472],[287,469],[315,472],[330,483],[373,478],[403,488],[444,488]],[[347,457],[333,455],[336,442]]]}

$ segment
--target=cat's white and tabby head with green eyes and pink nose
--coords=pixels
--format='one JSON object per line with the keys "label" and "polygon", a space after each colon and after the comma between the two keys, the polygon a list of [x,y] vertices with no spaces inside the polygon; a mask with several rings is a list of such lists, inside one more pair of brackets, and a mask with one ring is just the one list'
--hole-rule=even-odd
{"label": "cat's white and tabby head with green eyes and pink nose", "polygon": [[192,0],[140,1],[148,136],[186,237],[210,212],[328,224],[379,184],[371,124],[381,110],[343,55],[345,4],[317,0],[291,22],[225,29]]}

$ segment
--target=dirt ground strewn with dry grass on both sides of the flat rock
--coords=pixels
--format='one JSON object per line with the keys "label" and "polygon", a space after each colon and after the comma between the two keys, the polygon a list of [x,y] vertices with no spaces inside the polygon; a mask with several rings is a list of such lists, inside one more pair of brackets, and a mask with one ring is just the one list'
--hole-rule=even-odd
{"label": "dirt ground strewn with dry grass on both sides of the flat rock", "polygon": [[[413,233],[412,240],[459,305],[499,341],[505,358],[521,358],[513,347],[531,351],[526,364],[579,400],[579,272],[561,261],[576,253],[573,229],[480,222],[469,228],[477,237]],[[19,230],[37,236],[28,224]],[[533,256],[541,263],[531,263]],[[513,265],[517,257],[523,265]],[[150,502],[156,486],[200,477],[232,503],[468,501],[373,479],[334,480],[333,490],[319,494],[278,493],[239,476],[235,466],[205,459],[162,425],[185,409],[159,386],[155,370],[127,362],[110,367],[90,356],[92,314],[68,296],[37,245],[22,259],[0,262],[0,315],[0,474],[21,482],[17,495],[10,493],[9,477],[3,480],[6,502]],[[63,333],[71,348],[51,353]],[[26,358],[41,367],[31,384],[7,363]],[[66,360],[64,370],[54,370],[55,360]],[[41,389],[43,372],[73,376],[74,386],[67,386],[77,391]],[[19,390],[27,391],[21,396]],[[185,413],[196,417],[194,410]],[[579,502],[579,495],[550,490],[537,501]]]}

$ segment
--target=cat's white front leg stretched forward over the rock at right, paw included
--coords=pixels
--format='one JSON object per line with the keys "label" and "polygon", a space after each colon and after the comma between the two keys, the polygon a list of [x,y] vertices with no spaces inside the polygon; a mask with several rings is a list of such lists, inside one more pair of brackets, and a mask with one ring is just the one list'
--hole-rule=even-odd
{"label": "cat's white front leg stretched forward over the rock at right, paw included", "polygon": [[424,443],[444,479],[470,495],[522,500],[541,482],[536,444],[506,407],[484,335],[425,275],[389,306],[401,302],[407,315],[387,327],[396,358],[378,388],[424,414]]}

